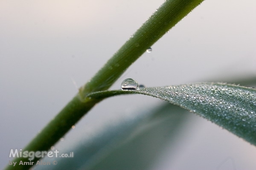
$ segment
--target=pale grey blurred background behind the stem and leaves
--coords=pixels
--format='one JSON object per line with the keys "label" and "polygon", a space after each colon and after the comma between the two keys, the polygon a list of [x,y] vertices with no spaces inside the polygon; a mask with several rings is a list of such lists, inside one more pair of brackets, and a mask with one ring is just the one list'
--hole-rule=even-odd
{"label": "pale grey blurred background behind the stem and leaves", "polygon": [[[163,0],[0,0],[0,169],[118,50]],[[256,76],[256,2],[205,0],[143,54],[125,78],[146,86]],[[125,101],[125,102],[124,102]],[[161,103],[120,96],[98,104],[69,136],[125,118],[120,111]],[[255,170],[256,147],[197,116],[158,170]],[[94,129],[94,130],[93,130]],[[189,131],[190,130],[190,131]],[[191,135],[193,133],[193,135]],[[64,141],[65,142],[65,141]],[[184,164],[186,162],[186,164]],[[234,167],[235,166],[235,167]],[[219,170],[218,169],[218,170]]]}

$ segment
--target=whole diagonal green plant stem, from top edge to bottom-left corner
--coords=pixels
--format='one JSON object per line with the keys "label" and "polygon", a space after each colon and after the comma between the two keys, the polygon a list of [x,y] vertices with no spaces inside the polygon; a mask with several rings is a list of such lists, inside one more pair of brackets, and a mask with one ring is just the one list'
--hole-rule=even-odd
{"label": "whole diagonal green plant stem, from top edge to bottom-left corner", "polygon": [[[100,100],[86,99],[87,94],[107,90],[122,73],[170,28],[175,26],[203,0],[166,0],[140,29],[108,60],[99,72],[80,88],[63,110],[23,149],[48,150]],[[36,161],[35,159],[34,161]],[[13,161],[28,161],[19,157]],[[6,169],[29,169],[31,165],[8,166]]]}

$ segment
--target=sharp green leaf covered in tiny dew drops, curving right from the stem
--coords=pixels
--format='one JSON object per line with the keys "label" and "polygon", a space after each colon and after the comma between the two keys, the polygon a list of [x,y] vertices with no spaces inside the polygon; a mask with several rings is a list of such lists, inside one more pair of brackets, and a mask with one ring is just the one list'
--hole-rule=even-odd
{"label": "sharp green leaf covered in tiny dew drops, curving right from the stem", "polygon": [[256,145],[256,89],[225,83],[194,83],[101,91],[87,97],[104,99],[120,94],[144,94],[188,109]]}

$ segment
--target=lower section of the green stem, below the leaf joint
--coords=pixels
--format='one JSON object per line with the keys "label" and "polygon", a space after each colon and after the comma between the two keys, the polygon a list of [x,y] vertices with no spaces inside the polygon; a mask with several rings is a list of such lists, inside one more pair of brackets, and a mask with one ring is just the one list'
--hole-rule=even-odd
{"label": "lower section of the green stem, below the leaf joint", "polygon": [[[84,116],[97,102],[100,100],[90,100],[86,103],[81,102],[79,96],[75,96],[63,109],[53,118],[44,129],[23,149],[23,151],[47,151],[58,140],[67,133],[76,122]],[[19,151],[19,150],[18,150]],[[54,150],[52,150],[54,151]],[[34,165],[40,158],[33,159]],[[18,157],[12,160],[17,162],[15,167],[8,166],[6,169],[26,170],[31,167],[30,165],[18,166],[20,161],[29,161],[28,158]]]}

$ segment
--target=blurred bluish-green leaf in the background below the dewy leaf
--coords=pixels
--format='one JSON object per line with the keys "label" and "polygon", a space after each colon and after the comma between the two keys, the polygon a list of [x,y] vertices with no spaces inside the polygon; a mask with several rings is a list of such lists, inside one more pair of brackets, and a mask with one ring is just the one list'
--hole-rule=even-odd
{"label": "blurred bluish-green leaf in the background below the dewy leaf", "polygon": [[35,170],[148,169],[167,144],[175,148],[177,136],[191,118],[186,110],[170,104],[132,115],[103,127],[90,139],[80,135],[80,140],[55,147],[63,153],[73,152],[74,158],[46,157],[42,162],[55,160],[58,164],[37,165]]}

